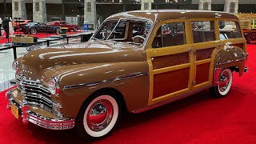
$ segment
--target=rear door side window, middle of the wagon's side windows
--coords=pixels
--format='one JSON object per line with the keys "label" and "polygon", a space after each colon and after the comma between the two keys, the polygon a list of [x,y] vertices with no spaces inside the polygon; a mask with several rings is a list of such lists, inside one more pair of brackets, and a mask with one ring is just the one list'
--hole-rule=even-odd
{"label": "rear door side window, middle of the wagon's side windows", "polygon": [[194,43],[215,41],[214,22],[191,22]]}

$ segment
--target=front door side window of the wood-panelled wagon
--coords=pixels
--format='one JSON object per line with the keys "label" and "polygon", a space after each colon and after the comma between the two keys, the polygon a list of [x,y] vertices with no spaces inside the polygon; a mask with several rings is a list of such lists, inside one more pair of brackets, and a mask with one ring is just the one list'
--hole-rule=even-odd
{"label": "front door side window of the wood-panelled wagon", "polygon": [[185,23],[166,23],[157,31],[152,42],[152,48],[178,46],[186,44]]}

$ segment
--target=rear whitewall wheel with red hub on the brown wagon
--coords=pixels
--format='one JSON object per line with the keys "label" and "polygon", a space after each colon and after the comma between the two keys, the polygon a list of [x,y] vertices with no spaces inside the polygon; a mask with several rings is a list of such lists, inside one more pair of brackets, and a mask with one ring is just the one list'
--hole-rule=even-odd
{"label": "rear whitewall wheel with red hub on the brown wagon", "polygon": [[210,92],[215,98],[225,97],[230,92],[232,86],[233,74],[230,69],[222,71],[218,86],[210,88]]}

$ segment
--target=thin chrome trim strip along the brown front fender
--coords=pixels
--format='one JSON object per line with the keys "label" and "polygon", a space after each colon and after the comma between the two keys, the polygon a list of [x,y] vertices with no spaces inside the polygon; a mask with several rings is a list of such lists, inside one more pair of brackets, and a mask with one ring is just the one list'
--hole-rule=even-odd
{"label": "thin chrome trim strip along the brown front fender", "polygon": [[116,81],[120,81],[120,80],[124,80],[124,79],[128,79],[128,78],[135,78],[135,77],[145,76],[145,75],[148,75],[148,74],[149,73],[138,72],[138,73],[130,74],[128,76],[117,77],[117,78],[108,79],[108,80],[99,81],[99,82],[81,83],[81,84],[78,84],[78,85],[64,86],[63,90],[76,89],[76,88],[80,88],[80,87],[84,87],[84,86],[95,86],[95,85],[102,84],[102,83],[116,82]]}

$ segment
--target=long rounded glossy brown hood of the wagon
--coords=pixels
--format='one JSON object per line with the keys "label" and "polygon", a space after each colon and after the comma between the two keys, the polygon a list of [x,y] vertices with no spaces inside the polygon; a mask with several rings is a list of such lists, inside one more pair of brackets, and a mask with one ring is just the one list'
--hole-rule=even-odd
{"label": "long rounded glossy brown hood of the wagon", "polygon": [[38,79],[46,70],[59,66],[91,63],[142,62],[142,49],[114,42],[86,42],[32,50],[22,58],[22,73]]}

